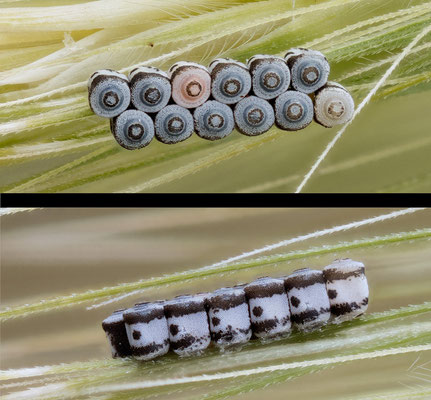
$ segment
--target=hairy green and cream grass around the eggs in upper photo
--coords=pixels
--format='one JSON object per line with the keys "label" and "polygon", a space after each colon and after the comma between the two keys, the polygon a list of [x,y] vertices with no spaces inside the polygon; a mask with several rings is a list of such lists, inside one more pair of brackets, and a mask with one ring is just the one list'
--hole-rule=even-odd
{"label": "hairy green and cream grass around the eggs in upper photo", "polygon": [[2,0],[0,8],[2,191],[295,191],[337,128],[128,151],[92,115],[88,77],[301,46],[324,52],[330,79],[360,104],[411,43],[302,190],[430,190],[429,1]]}

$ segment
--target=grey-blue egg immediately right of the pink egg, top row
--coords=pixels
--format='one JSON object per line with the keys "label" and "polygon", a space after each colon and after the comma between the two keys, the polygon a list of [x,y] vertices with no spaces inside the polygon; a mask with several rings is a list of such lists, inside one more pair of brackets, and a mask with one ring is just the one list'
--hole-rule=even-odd
{"label": "grey-blue egg immediately right of the pink egg, top row", "polygon": [[251,76],[247,66],[229,58],[217,58],[209,65],[211,94],[224,104],[235,104],[251,89]]}

